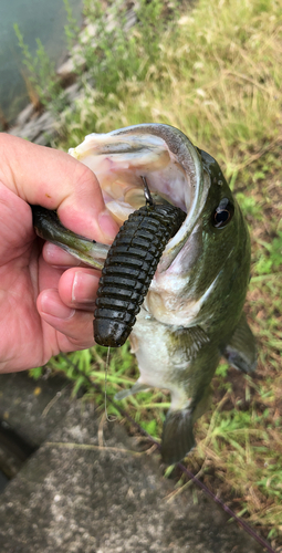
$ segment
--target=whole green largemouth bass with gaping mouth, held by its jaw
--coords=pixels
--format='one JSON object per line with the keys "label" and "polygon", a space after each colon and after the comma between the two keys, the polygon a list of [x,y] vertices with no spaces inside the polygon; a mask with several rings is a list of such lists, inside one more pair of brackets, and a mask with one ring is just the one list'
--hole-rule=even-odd
{"label": "whole green largemouth bass with gaping mouth, held by its jaw", "polygon": [[[177,462],[195,446],[192,427],[209,405],[220,357],[244,373],[255,368],[255,342],[242,311],[250,278],[246,221],[218,163],[168,125],[92,134],[70,154],[95,173],[119,225],[145,204],[144,178],[156,204],[186,213],[129,336],[140,376],[116,396],[150,387],[170,392],[161,455]],[[34,211],[38,233],[101,269],[108,247],[65,231],[52,217],[49,222],[46,213]]]}

